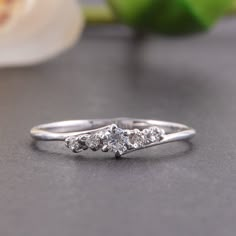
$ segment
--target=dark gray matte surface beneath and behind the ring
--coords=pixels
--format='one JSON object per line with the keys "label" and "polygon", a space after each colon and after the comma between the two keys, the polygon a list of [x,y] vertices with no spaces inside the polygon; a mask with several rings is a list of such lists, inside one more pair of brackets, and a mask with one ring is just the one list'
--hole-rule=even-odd
{"label": "dark gray matte surface beneath and behind the ring", "polygon": [[[0,70],[1,236],[234,236],[236,21],[134,42],[90,29],[50,63]],[[116,160],[31,142],[31,126],[130,116],[183,122],[192,144]]]}

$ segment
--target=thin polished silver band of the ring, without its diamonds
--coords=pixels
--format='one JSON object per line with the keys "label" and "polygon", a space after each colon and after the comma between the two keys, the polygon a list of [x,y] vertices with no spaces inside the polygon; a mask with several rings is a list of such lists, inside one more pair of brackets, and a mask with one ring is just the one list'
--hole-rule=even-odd
{"label": "thin polished silver band of the ring, without its diamonds", "polygon": [[[132,136],[132,138],[134,139],[133,144],[135,144],[135,142],[138,142],[136,140],[140,140],[140,137],[143,138],[145,136],[145,132],[146,132],[145,136],[146,138],[152,135],[152,133],[154,132],[153,130],[151,130],[152,127],[160,128],[159,131],[157,130],[155,131],[156,132],[155,137],[157,137],[158,135],[159,137],[158,140],[155,139],[153,142],[150,141],[149,143],[147,143],[146,140],[144,140],[142,145],[141,144],[140,146],[136,145],[137,148],[134,148],[136,146],[133,145],[132,148],[130,148],[130,150],[129,148],[127,148],[127,150],[125,150],[124,153],[122,152],[121,154],[125,154],[129,151],[134,151],[137,149],[142,149],[154,145],[160,145],[164,143],[190,139],[196,134],[196,131],[194,129],[179,123],[172,123],[159,120],[131,119],[131,118],[60,121],[60,122],[35,126],[31,129],[30,133],[34,139],[41,141],[65,141],[68,137],[77,137],[78,141],[78,137],[82,138],[82,136],[84,135],[90,135],[90,136],[97,135],[99,132],[101,133],[107,131],[108,129],[110,129],[112,125],[116,125],[117,127],[119,127],[119,129],[122,130],[122,135],[124,130],[131,130],[131,131],[138,130],[139,133],[136,132],[135,134],[136,136],[131,134],[132,132],[128,135],[129,138]],[[145,139],[145,137],[143,139]],[[123,140],[124,138],[122,138],[122,142]],[[106,139],[106,144],[109,143],[109,141],[111,141],[111,137],[110,138],[108,137]],[[120,144],[120,139],[118,141]],[[104,140],[103,143],[105,143]],[[84,145],[83,148],[86,149],[87,146]],[[126,143],[125,146],[127,146]]]}

